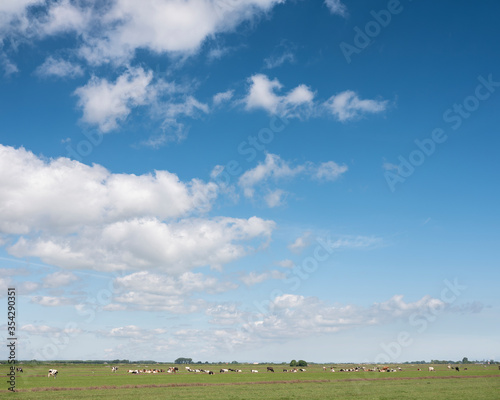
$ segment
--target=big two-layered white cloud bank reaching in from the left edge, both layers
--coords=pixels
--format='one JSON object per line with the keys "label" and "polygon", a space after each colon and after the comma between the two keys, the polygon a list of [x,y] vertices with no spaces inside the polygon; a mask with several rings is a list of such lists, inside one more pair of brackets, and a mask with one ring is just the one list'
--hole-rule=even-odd
{"label": "big two-layered white cloud bank reaching in from the left edge, both layers", "polygon": [[[266,243],[273,221],[214,217],[217,185],[168,171],[112,174],[0,146],[0,233],[8,251],[62,268],[172,273],[221,268]],[[20,236],[19,236],[20,235]]]}

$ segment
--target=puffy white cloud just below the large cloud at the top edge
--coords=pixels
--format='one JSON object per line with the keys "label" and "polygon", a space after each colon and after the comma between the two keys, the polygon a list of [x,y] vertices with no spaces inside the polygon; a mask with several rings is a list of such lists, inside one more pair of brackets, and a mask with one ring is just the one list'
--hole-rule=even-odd
{"label": "puffy white cloud just below the large cloud at the top edge", "polygon": [[130,68],[114,83],[92,77],[85,86],[75,90],[78,106],[83,110],[82,120],[97,125],[102,132],[116,129],[132,107],[148,103],[152,79],[153,73],[141,67]]}

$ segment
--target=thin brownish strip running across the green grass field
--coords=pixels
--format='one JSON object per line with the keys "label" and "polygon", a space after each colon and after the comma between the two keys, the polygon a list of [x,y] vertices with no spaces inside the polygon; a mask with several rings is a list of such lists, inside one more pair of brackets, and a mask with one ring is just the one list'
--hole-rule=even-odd
{"label": "thin brownish strip running across the green grass field", "polygon": [[[167,387],[195,387],[195,386],[238,386],[238,385],[274,385],[295,383],[335,383],[335,382],[370,382],[370,381],[399,381],[399,380],[425,380],[425,379],[477,379],[477,378],[500,378],[500,375],[470,375],[470,376],[418,376],[418,377],[388,377],[388,378],[352,378],[352,379],[314,379],[314,380],[279,380],[264,382],[224,382],[224,383],[165,383],[150,385],[103,385],[89,387],[44,387],[32,389],[17,389],[16,392],[58,392],[71,390],[108,390],[108,389],[143,389],[143,388],[167,388]],[[7,392],[2,390],[0,392]]]}

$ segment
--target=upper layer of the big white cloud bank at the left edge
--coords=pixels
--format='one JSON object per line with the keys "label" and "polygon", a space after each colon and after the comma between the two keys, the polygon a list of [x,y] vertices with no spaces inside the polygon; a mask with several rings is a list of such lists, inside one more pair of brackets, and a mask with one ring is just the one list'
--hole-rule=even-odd
{"label": "upper layer of the big white cloud bank at the left edge", "polygon": [[176,218],[208,210],[214,183],[184,183],[168,171],[112,174],[67,158],[44,160],[0,145],[0,232],[75,232],[120,220]]}

